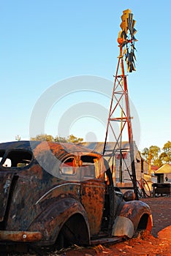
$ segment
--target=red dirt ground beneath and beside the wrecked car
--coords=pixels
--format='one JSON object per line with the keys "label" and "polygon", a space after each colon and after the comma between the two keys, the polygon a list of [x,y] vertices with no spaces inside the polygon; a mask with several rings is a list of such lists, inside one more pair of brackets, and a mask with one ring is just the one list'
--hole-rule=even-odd
{"label": "red dirt ground beneath and beside the wrecked car", "polygon": [[[140,233],[137,238],[118,244],[105,244],[88,248],[75,246],[61,252],[51,252],[48,256],[171,256],[171,197],[142,200],[148,203],[152,210],[153,229],[151,234],[148,232]],[[14,256],[16,254],[7,255]],[[28,256],[28,254],[26,255]],[[31,253],[30,255],[37,256],[39,254]]]}

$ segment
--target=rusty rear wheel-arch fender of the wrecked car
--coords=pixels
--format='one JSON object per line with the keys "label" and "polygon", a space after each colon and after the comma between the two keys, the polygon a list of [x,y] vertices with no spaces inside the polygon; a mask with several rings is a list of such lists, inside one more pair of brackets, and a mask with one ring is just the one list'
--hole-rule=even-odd
{"label": "rusty rear wheel-arch fender of the wrecked car", "polygon": [[28,230],[42,233],[42,241],[40,244],[46,244],[46,241],[47,244],[54,244],[61,227],[75,214],[82,215],[88,231],[88,240],[90,241],[90,230],[86,211],[81,203],[72,197],[59,199],[47,206],[47,208],[39,214],[39,217],[34,219],[34,222],[31,223]]}

